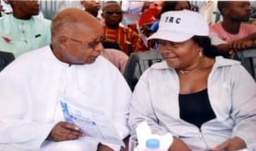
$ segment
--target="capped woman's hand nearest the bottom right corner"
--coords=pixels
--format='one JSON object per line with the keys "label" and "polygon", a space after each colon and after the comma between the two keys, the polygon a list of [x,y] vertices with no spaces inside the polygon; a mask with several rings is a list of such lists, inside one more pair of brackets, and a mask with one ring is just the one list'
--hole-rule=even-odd
{"label": "capped woman's hand nearest the bottom right corner", "polygon": [[240,137],[234,137],[218,145],[218,147],[212,148],[212,151],[221,151],[224,149],[227,151],[235,151],[243,148],[247,148],[246,143]]}

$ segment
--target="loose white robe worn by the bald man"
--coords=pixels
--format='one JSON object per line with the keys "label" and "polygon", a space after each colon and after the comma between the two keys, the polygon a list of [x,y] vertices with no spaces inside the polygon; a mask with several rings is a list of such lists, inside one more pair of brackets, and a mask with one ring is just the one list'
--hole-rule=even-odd
{"label": "loose white robe worn by the bald man", "polygon": [[55,124],[64,120],[60,101],[69,98],[101,110],[102,120],[113,123],[120,139],[129,134],[131,90],[119,70],[102,56],[93,64],[69,65],[56,59],[47,46],[20,55],[0,73],[0,83],[1,151],[96,150],[99,141],[86,136],[45,141]]}

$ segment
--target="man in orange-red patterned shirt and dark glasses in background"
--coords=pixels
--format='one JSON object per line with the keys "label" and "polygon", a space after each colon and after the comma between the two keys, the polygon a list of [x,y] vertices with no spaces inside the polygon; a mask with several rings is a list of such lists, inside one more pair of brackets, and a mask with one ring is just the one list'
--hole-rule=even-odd
{"label": "man in orange-red patterned shirt and dark glasses in background", "polygon": [[133,52],[148,50],[136,31],[119,26],[123,12],[119,3],[108,1],[102,8],[102,18],[105,21],[104,33],[107,42],[118,42],[122,51],[128,56]]}

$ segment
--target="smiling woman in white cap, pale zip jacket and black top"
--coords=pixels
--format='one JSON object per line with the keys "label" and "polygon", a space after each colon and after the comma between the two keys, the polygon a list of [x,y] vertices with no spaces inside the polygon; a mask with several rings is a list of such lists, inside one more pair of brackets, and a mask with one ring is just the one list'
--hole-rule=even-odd
{"label": "smiling woman in white cap, pale zip jacket and black top", "polygon": [[256,84],[240,62],[218,56],[207,21],[189,10],[160,17],[164,61],[143,73],[132,94],[131,136],[142,121],[172,133],[169,150],[256,149]]}

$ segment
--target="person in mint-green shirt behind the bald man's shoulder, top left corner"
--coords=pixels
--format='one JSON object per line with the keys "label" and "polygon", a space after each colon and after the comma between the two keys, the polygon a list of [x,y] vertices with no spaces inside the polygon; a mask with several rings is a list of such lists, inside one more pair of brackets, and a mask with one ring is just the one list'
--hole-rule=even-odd
{"label": "person in mint-green shirt behind the bald man's shoulder, top left corner", "polygon": [[9,0],[9,4],[13,14],[0,18],[0,50],[18,57],[49,45],[50,20],[33,16],[39,13],[38,1]]}

